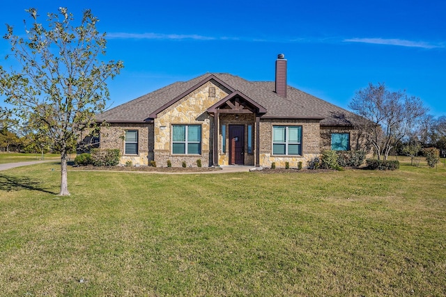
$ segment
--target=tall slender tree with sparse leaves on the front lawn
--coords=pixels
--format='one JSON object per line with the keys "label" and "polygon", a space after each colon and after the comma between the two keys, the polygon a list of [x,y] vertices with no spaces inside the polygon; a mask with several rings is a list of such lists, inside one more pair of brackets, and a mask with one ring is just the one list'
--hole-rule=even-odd
{"label": "tall slender tree with sparse leaves on the front lawn", "polygon": [[[34,130],[51,139],[52,149],[61,152],[61,191],[68,191],[68,152],[80,141],[84,131],[95,128],[95,113],[105,109],[109,99],[107,79],[123,67],[121,61],[100,61],[105,55],[105,33],[96,29],[98,18],[85,10],[82,21],[67,8],[48,13],[47,23],[38,22],[36,8],[26,10],[31,28],[26,38],[7,26],[4,36],[19,70],[0,66],[0,95],[14,106],[15,115],[31,121]],[[9,57],[9,56],[8,56]],[[7,58],[8,58],[7,57]]]}

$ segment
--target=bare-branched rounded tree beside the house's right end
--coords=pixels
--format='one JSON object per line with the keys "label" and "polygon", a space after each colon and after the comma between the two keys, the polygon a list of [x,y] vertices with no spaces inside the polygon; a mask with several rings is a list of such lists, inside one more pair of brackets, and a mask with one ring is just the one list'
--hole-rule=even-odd
{"label": "bare-branched rounded tree beside the house's right end", "polygon": [[349,107],[357,114],[351,119],[366,136],[378,159],[386,160],[392,147],[417,129],[427,109],[419,97],[405,91],[390,92],[384,83],[358,90]]}

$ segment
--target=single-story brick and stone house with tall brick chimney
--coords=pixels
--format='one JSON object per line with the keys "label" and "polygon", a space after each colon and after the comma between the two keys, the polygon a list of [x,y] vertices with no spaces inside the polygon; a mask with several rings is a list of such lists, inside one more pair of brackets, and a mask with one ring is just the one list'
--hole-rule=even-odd
{"label": "single-story brick and stone house with tall brick chimney", "polygon": [[288,86],[286,68],[279,54],[275,81],[206,73],[100,113],[100,147],[121,149],[122,164],[277,167],[357,149],[353,113]]}

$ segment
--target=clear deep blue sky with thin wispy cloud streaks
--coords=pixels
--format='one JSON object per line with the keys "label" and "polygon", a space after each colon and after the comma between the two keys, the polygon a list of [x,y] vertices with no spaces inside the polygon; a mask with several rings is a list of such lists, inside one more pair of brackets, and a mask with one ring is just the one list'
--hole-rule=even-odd
{"label": "clear deep blue sky with thin wispy cloud streaks", "polygon": [[[356,90],[385,82],[446,115],[444,0],[1,0],[1,23],[22,33],[25,8],[59,6],[77,18],[90,8],[108,35],[105,58],[124,62],[109,82],[113,106],[205,72],[272,81],[283,53],[288,83],[333,104],[348,108]],[[8,48],[0,40],[0,56]]]}

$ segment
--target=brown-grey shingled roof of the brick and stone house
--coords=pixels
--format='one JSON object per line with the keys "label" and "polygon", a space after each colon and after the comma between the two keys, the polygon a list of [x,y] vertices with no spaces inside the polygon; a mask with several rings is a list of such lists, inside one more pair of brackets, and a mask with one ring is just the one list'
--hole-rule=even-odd
{"label": "brown-grey shingled roof of the brick and stone house", "polygon": [[316,119],[321,125],[351,125],[352,115],[339,106],[287,86],[286,98],[275,93],[274,81],[247,81],[227,73],[206,73],[184,82],[172,83],[125,104],[96,115],[98,122],[148,122],[162,109],[192,92],[208,81],[216,81],[229,89],[239,91],[266,109],[262,118]]}

